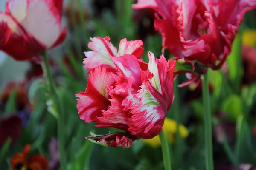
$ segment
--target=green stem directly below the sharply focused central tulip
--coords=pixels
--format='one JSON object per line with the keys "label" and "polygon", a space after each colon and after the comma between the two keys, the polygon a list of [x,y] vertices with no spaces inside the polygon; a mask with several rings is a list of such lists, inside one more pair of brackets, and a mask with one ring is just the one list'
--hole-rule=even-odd
{"label": "green stem directly below the sharply focused central tulip", "polygon": [[161,145],[162,145],[164,169],[172,170],[168,142],[167,142],[167,139],[166,139],[166,136],[165,136],[163,130],[159,134],[159,138],[160,138]]}

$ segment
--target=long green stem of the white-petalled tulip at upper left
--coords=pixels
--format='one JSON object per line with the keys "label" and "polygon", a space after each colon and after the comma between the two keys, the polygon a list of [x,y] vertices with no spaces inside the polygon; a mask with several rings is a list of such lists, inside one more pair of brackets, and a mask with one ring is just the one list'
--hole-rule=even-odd
{"label": "long green stem of the white-petalled tulip at upper left", "polygon": [[50,71],[50,64],[49,64],[49,59],[47,57],[46,52],[43,53],[43,62],[44,62],[44,73],[45,76],[48,80],[49,83],[49,91],[50,95],[52,97],[52,100],[56,106],[56,109],[58,111],[58,119],[57,119],[57,124],[58,124],[58,150],[60,152],[60,164],[61,164],[61,170],[66,169],[66,159],[65,159],[65,146],[64,146],[64,131],[63,131],[63,125],[62,125],[62,109],[61,109],[61,103],[58,99],[58,94],[55,88],[55,84],[52,79],[51,71]]}

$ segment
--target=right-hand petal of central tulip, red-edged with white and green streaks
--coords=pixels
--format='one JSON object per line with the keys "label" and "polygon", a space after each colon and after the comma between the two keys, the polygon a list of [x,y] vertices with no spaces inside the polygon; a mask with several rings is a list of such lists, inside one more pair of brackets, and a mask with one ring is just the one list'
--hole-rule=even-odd
{"label": "right-hand petal of central tulip, red-edged with white and green streaks", "polygon": [[141,72],[143,83],[139,93],[135,94],[140,102],[132,103],[132,116],[128,119],[128,130],[143,139],[153,138],[160,133],[174,99],[175,61],[170,59],[167,62],[163,55],[156,59],[151,52],[148,57],[148,71]]}

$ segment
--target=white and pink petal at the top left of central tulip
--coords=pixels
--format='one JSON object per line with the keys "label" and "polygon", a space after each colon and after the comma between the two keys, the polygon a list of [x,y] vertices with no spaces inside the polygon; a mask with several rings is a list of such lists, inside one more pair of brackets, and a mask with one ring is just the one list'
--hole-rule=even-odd
{"label": "white and pink petal at the top left of central tulip", "polygon": [[93,51],[84,52],[87,58],[84,59],[84,68],[93,69],[104,66],[107,70],[116,71],[116,65],[110,56],[117,56],[116,48],[109,42],[110,38],[94,37],[90,39],[92,42],[88,47]]}

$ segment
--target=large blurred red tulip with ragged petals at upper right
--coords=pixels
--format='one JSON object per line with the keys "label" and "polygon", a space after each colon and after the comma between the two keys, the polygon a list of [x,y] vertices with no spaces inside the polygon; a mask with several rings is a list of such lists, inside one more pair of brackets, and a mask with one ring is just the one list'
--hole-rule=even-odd
{"label": "large blurred red tulip with ragged petals at upper right", "polygon": [[[163,50],[220,69],[232,49],[238,27],[255,0],[138,0],[135,9],[151,8]],[[216,62],[220,61],[218,65]]]}

